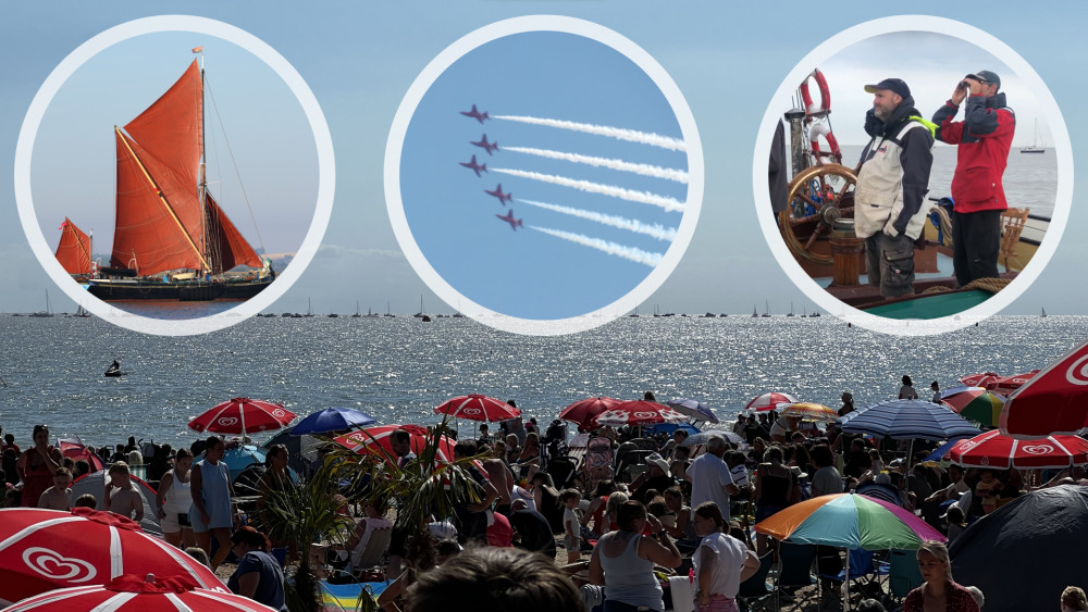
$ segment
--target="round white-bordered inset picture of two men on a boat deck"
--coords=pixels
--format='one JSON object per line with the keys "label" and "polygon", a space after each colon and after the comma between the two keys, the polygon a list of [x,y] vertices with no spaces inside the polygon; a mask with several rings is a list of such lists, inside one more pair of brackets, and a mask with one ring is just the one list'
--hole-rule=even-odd
{"label": "round white-bordered inset picture of two men on a boat deck", "polygon": [[1027,289],[1064,228],[1072,164],[1053,97],[1012,49],[957,22],[890,17],[787,77],[753,180],[764,234],[808,298],[920,335]]}

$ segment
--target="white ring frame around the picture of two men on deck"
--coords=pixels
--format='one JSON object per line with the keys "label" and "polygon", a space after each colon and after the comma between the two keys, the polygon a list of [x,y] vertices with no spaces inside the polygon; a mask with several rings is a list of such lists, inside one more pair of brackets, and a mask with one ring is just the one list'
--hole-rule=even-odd
{"label": "white ring frame around the picture of two men on deck", "polygon": [[1042,270],[1058,249],[1058,243],[1065,232],[1065,224],[1068,221],[1070,210],[1073,204],[1073,147],[1070,142],[1065,118],[1062,116],[1062,111],[1058,108],[1058,102],[1054,100],[1053,95],[1047,88],[1042,78],[1039,77],[1035,70],[1016,51],[992,35],[974,26],[930,15],[885,17],[865,22],[840,32],[813,49],[812,52],[798,63],[778,87],[772,100],[780,100],[788,97],[796,88],[796,84],[801,83],[812,72],[812,66],[818,65],[855,42],[881,34],[912,30],[930,32],[960,38],[997,57],[1016,73],[1016,76],[1024,79],[1025,85],[1038,100],[1039,107],[1051,126],[1051,133],[1054,138],[1054,154],[1058,158],[1058,190],[1056,198],[1054,199],[1053,217],[1047,229],[1047,236],[1043,238],[1035,255],[1033,255],[1031,261],[1007,287],[985,302],[959,314],[926,321],[895,320],[867,314],[864,311],[846,305],[827,292],[827,290],[805,274],[801,264],[794,260],[786,241],[782,240],[775,220],[770,215],[764,214],[764,211],[769,211],[771,207],[770,193],[767,191],[767,159],[770,155],[770,141],[775,133],[775,123],[781,115],[774,104],[768,107],[763,117],[763,123],[759,124],[759,134],[756,138],[755,153],[752,162],[752,184],[755,193],[756,212],[758,213],[756,217],[759,220],[767,245],[770,247],[782,271],[786,272],[787,276],[793,280],[793,284],[808,299],[819,304],[826,312],[873,332],[900,336],[928,336],[954,332],[997,314],[1001,309],[1012,303],[1013,300],[1026,291],[1031,286],[1031,283],[1039,277],[1039,274],[1042,273]]}

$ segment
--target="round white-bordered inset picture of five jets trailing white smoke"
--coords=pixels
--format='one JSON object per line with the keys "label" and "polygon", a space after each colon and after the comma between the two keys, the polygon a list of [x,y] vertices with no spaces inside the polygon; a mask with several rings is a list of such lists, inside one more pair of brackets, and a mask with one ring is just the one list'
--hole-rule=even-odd
{"label": "round white-bordered inset picture of five jets trailing white smoke", "polygon": [[634,309],[676,266],[702,200],[691,113],[598,25],[492,24],[417,78],[386,150],[401,249],[459,312],[564,334]]}

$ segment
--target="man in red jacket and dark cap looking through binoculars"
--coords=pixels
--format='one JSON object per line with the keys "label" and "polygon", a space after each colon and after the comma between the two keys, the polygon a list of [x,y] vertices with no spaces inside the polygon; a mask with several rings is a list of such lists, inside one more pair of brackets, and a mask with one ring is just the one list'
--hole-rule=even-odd
{"label": "man in red jacket and dark cap looking through binoculars", "polygon": [[[952,176],[952,265],[961,287],[998,276],[1001,213],[1009,208],[1001,176],[1016,129],[1000,87],[1001,79],[990,71],[968,74],[934,113],[937,139],[959,145]],[[965,98],[964,120],[953,122]]]}

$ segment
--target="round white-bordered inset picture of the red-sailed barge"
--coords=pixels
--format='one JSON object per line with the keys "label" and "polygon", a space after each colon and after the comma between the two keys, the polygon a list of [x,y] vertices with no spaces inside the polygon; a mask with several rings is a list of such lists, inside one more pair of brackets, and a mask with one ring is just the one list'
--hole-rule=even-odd
{"label": "round white-bordered inset picture of the red-sailed barge", "polygon": [[304,242],[316,250],[326,132],[301,78],[252,36],[129,22],[69,55],[32,103],[24,229],[81,311],[157,334],[223,327],[286,290]]}

